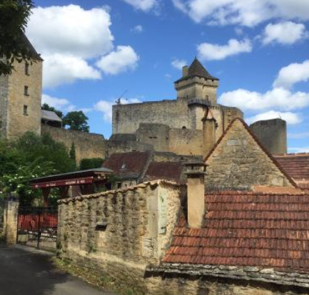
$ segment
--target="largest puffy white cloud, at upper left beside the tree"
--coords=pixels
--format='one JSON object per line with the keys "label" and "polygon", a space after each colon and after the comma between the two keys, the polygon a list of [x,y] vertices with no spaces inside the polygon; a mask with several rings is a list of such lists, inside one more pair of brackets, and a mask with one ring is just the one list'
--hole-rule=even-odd
{"label": "largest puffy white cloud, at upper left beside the tree", "polygon": [[78,5],[33,9],[26,34],[39,53],[63,53],[93,58],[113,48],[111,16],[103,8]]}

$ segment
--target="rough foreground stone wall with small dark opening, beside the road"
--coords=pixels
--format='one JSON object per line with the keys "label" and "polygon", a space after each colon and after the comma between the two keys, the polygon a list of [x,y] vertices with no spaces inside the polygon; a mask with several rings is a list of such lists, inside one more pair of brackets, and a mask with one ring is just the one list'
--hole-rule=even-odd
{"label": "rough foreground stone wall with small dark opening, beside the road", "polygon": [[172,182],[59,202],[60,257],[145,291],[146,266],[158,265],[171,242],[180,201]]}

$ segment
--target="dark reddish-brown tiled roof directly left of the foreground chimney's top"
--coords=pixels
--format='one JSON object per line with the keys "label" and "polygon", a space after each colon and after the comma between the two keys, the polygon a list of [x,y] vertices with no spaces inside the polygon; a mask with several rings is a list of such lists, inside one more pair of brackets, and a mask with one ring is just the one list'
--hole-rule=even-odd
{"label": "dark reddish-brown tiled roof directly left of the foreground chimney's top", "polygon": [[151,162],[145,176],[149,180],[173,180],[180,182],[183,165],[181,162]]}

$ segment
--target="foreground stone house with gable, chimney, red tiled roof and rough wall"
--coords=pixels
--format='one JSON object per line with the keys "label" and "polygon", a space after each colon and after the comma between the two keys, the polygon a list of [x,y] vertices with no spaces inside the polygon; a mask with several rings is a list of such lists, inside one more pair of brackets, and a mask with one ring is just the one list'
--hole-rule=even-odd
{"label": "foreground stone house with gable, chimney, red tiled roof and rough wall", "polygon": [[243,120],[186,175],[60,200],[59,257],[143,294],[309,293],[309,195]]}

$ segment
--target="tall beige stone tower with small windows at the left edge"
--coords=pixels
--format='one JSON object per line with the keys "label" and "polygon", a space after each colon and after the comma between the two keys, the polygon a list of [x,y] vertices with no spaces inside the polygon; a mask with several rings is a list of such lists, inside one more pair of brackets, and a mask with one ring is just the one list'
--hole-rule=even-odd
{"label": "tall beige stone tower with small windows at the left edge", "polygon": [[35,61],[16,62],[10,76],[0,76],[0,131],[9,140],[26,131],[41,135],[43,60],[29,40],[25,40]]}

